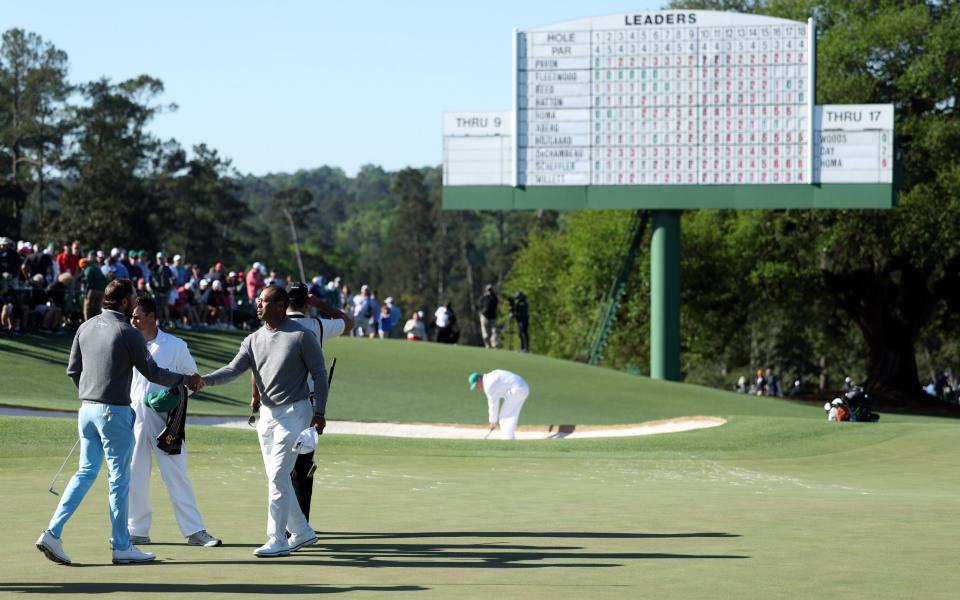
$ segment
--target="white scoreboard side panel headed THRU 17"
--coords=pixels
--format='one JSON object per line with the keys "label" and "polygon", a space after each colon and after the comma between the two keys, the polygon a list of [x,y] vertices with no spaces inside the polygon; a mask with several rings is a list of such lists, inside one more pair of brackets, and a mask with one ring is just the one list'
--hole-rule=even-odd
{"label": "white scoreboard side panel headed THRU 17", "polygon": [[814,181],[893,183],[893,105],[826,104],[814,122]]}

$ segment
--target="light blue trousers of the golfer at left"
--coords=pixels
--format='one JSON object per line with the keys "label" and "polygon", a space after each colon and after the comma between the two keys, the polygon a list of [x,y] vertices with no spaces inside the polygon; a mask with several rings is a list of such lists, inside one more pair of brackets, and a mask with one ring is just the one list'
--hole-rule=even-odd
{"label": "light blue trousers of the golfer at left", "polygon": [[111,543],[114,550],[130,547],[127,531],[127,498],[130,492],[130,458],[133,456],[133,408],[112,404],[80,405],[80,467],[70,478],[60,504],[50,519],[50,532],[60,537],[63,527],[77,511],[107,459],[110,494]]}

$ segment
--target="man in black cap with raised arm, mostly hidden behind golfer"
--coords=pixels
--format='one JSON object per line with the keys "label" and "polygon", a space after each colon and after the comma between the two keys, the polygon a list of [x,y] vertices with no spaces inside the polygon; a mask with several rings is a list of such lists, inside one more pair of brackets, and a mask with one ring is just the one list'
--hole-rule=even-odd
{"label": "man in black cap with raised arm, mostly hidden behind golfer", "polygon": [[[287,316],[295,319],[297,325],[312,331],[320,342],[320,348],[323,343],[337,336],[349,336],[353,330],[353,319],[347,316],[343,311],[336,309],[315,294],[311,294],[309,288],[303,283],[295,283],[288,290],[290,294],[290,306],[287,308]],[[321,315],[311,318],[307,316],[307,307],[315,308]],[[313,397],[313,381],[307,380],[310,388],[311,400]],[[253,386],[255,398],[259,398],[257,386]],[[297,495],[297,503],[303,512],[304,518],[310,520],[310,499],[313,496],[313,462],[314,453],[298,454],[297,462],[290,473],[290,479],[293,482],[293,491]]]}

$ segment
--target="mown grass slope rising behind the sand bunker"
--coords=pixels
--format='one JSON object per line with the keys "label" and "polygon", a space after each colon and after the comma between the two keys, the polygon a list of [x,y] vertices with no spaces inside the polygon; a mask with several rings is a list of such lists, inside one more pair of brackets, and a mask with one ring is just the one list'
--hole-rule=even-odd
{"label": "mown grass slope rising behind the sand bunker", "polygon": [[[233,358],[241,334],[178,333],[202,372]],[[0,339],[0,403],[76,409],[76,391],[64,375],[67,337]],[[483,423],[486,403],[470,392],[472,371],[507,369],[530,383],[521,423],[636,423],[688,415],[823,417],[806,405],[710,388],[656,381],[610,369],[481,348],[405,341],[338,338],[325,348],[337,357],[328,416],[397,422]],[[249,380],[207,388],[191,400],[195,414],[244,414]]]}

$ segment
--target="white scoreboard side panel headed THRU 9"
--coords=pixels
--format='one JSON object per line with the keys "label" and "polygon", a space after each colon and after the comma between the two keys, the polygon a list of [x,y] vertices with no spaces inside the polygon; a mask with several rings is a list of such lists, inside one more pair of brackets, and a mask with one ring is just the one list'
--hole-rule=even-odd
{"label": "white scoreboard side panel headed THRU 9", "polygon": [[443,184],[507,185],[514,182],[513,113],[443,114]]}

